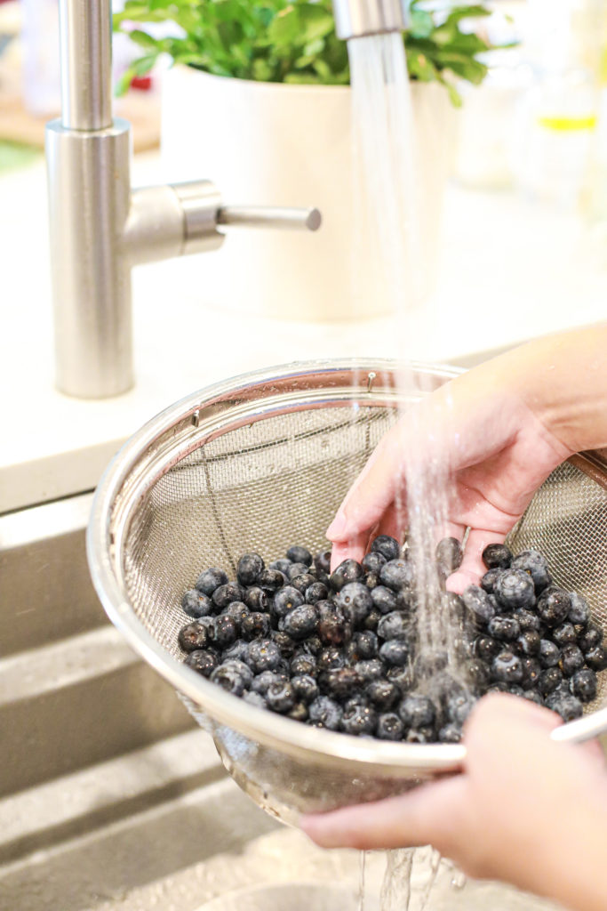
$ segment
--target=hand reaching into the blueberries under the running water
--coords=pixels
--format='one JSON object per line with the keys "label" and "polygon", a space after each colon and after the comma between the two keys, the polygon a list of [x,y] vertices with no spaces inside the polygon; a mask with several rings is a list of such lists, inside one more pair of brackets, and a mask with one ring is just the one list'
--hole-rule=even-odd
{"label": "hand reaching into the blueberries under the running water", "polygon": [[460,592],[486,571],[486,545],[504,540],[536,489],[571,454],[491,368],[463,374],[411,408],[381,439],[327,532],[331,566],[347,557],[360,560],[376,535],[401,539],[407,485],[440,465],[442,477],[429,482],[444,483],[448,494],[436,541],[461,540],[470,527],[462,565],[448,583]]}

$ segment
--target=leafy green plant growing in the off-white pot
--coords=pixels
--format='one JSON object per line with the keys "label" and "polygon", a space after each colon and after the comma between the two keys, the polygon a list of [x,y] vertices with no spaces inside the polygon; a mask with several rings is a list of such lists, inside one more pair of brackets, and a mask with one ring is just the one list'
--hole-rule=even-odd
{"label": "leafy green plant growing in the off-white pot", "polygon": [[[461,26],[490,10],[482,4],[428,6],[424,0],[410,3],[410,28],[404,34],[410,77],[440,82],[459,105],[453,78],[481,83],[487,67],[478,55],[491,49]],[[173,34],[156,37],[134,27],[139,23],[171,23]],[[149,72],[161,55],[216,76],[349,84],[348,49],[335,34],[330,0],[126,0],[114,26],[143,51],[120,79],[118,94],[134,77]]]}

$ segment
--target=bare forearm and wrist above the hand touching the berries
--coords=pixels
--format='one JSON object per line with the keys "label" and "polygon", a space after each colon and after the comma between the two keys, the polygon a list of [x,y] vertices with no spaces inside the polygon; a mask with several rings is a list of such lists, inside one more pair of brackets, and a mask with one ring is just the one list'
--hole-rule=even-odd
{"label": "bare forearm and wrist above the hand touching the berries", "polygon": [[479,370],[572,452],[607,446],[607,324],[536,339]]}

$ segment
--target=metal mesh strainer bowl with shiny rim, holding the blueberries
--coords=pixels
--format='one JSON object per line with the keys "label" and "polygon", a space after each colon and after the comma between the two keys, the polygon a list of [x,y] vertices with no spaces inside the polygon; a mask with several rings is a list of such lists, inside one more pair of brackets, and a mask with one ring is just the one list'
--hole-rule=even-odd
{"label": "metal mesh strainer bowl with shiny rim, holding the blueberries", "polygon": [[[87,551],[109,619],[176,688],[238,784],[285,821],[454,771],[465,748],[359,739],[237,699],[182,662],[182,594],[203,568],[235,573],[247,551],[272,560],[292,543],[325,547],[329,521],[396,420],[397,405],[457,373],[422,364],[402,372],[379,360],[295,364],[238,377],[150,421],[97,488]],[[603,628],[606,484],[599,456],[575,456],[548,478],[512,534],[515,549],[541,549],[555,578],[589,599]],[[558,739],[580,741],[607,729],[607,674],[601,676],[587,714],[562,725]]]}

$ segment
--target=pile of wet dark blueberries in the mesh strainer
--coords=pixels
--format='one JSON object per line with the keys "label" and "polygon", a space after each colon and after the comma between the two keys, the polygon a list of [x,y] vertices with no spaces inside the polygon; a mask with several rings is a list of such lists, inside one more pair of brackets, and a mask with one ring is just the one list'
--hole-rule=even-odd
{"label": "pile of wet dark blueberries in the mesh strainer", "polygon": [[[385,535],[361,563],[344,560],[333,573],[330,551],[312,558],[302,547],[268,567],[246,554],[235,581],[205,570],[182,599],[193,621],[179,645],[190,668],[235,696],[330,731],[459,742],[489,691],[579,717],[607,668],[587,602],[552,583],[538,551],[513,557],[491,544],[482,556],[480,586],[461,597],[441,586],[450,652],[419,650],[415,568]],[[444,581],[460,565],[460,543],[445,538],[436,557]]]}

